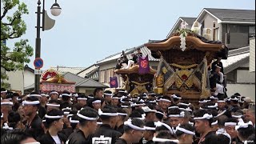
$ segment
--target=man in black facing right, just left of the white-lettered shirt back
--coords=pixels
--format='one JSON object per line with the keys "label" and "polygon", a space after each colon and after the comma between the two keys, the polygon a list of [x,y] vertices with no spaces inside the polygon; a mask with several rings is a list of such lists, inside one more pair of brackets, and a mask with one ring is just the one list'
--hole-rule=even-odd
{"label": "man in black facing right, just left of the white-lettered shirt back", "polygon": [[92,144],[92,134],[97,129],[98,112],[85,107],[78,112],[80,127],[67,140],[67,144]]}

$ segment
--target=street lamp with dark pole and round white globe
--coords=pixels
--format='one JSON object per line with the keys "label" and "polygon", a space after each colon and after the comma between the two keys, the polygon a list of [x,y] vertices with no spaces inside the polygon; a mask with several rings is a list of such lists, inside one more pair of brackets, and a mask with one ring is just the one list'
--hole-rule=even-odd
{"label": "street lamp with dark pole and round white globe", "polygon": [[[51,19],[45,10],[45,0],[42,1],[42,12],[41,12],[41,1],[38,0],[38,10],[36,12],[37,14],[37,38],[35,39],[35,58],[41,57],[41,38],[40,38],[40,28],[42,28],[42,31],[44,30],[50,30],[54,27],[55,20]],[[54,16],[58,16],[62,12],[62,8],[58,5],[57,0],[55,0],[55,3],[50,8],[51,14]],[[41,20],[41,14],[42,14],[42,26],[40,23]],[[40,74],[35,74],[34,76],[34,91],[39,94],[40,92]]]}

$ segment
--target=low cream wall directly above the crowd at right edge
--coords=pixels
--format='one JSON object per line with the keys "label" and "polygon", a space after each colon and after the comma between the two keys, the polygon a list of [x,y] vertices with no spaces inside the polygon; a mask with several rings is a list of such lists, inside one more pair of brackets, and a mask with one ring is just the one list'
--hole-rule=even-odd
{"label": "low cream wall directly above the crowd at right edge", "polygon": [[227,84],[226,89],[228,97],[239,93],[242,96],[250,97],[255,102],[255,84]]}

